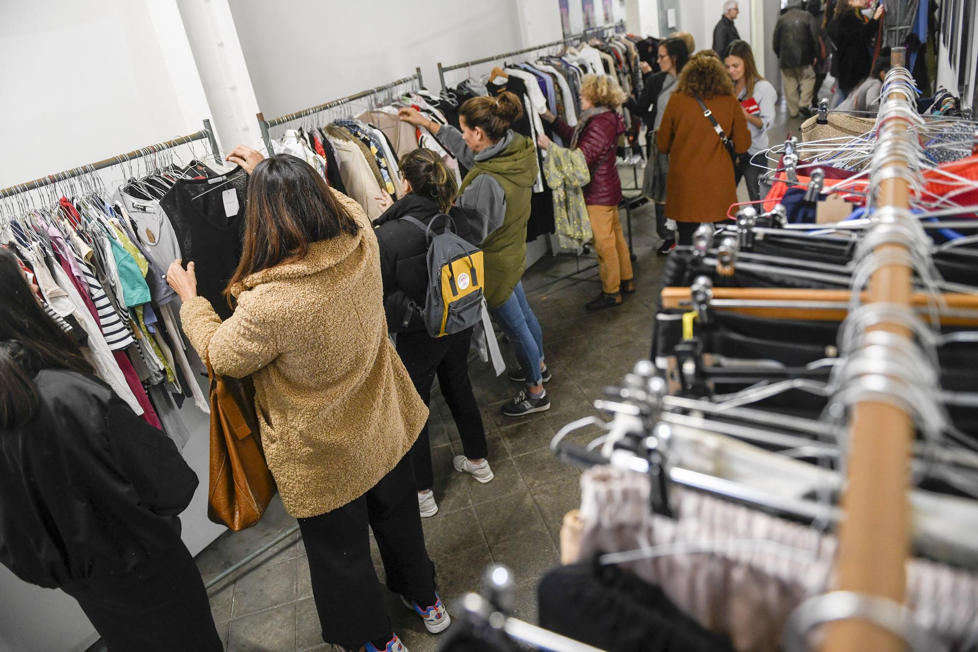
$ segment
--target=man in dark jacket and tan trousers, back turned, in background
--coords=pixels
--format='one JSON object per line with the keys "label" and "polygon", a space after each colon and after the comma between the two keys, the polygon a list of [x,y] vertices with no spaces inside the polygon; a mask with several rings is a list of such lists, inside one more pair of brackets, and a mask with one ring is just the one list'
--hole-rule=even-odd
{"label": "man in dark jacket and tan trousers, back turned, in background", "polygon": [[815,92],[815,62],[819,54],[819,29],[815,18],[793,0],[788,11],[775,25],[774,48],[780,62],[784,98],[788,114],[797,117],[801,111],[811,116]]}

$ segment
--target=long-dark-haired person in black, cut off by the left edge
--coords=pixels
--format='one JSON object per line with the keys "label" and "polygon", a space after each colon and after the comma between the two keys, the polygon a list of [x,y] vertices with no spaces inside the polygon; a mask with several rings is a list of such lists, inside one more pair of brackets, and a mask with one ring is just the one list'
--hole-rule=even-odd
{"label": "long-dark-haired person in black, cut off by the left edge", "polygon": [[0,247],[0,562],[78,601],[111,652],[224,649],[179,514],[198,479],[92,375]]}

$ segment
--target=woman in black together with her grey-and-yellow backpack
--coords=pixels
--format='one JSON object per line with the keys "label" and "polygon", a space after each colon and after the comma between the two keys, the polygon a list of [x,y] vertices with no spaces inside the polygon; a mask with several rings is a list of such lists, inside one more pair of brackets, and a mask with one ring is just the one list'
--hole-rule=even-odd
{"label": "woman in black together with her grey-and-yellow backpack", "polygon": [[[404,155],[400,168],[405,195],[374,221],[387,328],[397,334],[397,352],[425,405],[438,377],[465,452],[453,460],[456,471],[488,483],[493,473],[485,429],[468,379],[472,324],[482,305],[482,253],[476,246],[485,239],[485,220],[453,206],[455,177],[431,150]],[[434,516],[428,424],[411,459],[422,517]]]}

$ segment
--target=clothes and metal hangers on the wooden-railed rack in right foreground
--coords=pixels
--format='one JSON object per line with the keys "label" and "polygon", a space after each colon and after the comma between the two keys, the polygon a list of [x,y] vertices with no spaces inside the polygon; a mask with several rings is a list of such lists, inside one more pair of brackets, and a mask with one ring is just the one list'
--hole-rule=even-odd
{"label": "clothes and metal hangers on the wooden-railed rack in right foreground", "polygon": [[[895,69],[883,96],[911,88]],[[889,100],[872,133],[772,152],[778,182],[816,201],[839,195],[864,217],[789,224],[769,195],[770,210],[718,215],[669,256],[649,359],[605,390],[601,417],[552,443],[584,472],[560,533],[564,565],[539,584],[541,628],[604,650],[775,652],[815,649],[820,626],[855,618],[907,649],[978,649],[978,160],[969,136],[964,156],[934,163],[948,120],[902,104]],[[894,120],[906,137],[880,140]],[[833,185],[825,162],[844,155],[861,185]],[[801,169],[824,184],[788,181]],[[881,204],[894,179],[909,209]],[[908,304],[873,301],[895,261],[912,270]],[[853,425],[866,401],[912,424],[901,603],[832,588],[840,525],[858,518],[840,500],[853,442],[876,431],[890,445],[879,424]]]}

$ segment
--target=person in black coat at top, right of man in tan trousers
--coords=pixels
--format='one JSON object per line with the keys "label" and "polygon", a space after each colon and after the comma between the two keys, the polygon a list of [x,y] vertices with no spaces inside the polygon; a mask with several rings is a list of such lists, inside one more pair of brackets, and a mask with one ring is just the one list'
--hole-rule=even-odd
{"label": "person in black coat at top, right of man in tan trousers", "polygon": [[838,86],[835,104],[848,97],[872,70],[872,41],[883,15],[883,5],[867,19],[860,9],[862,0],[838,0],[835,19],[828,25],[828,35],[835,44],[832,76]]}

